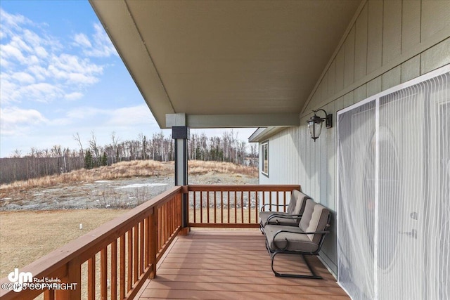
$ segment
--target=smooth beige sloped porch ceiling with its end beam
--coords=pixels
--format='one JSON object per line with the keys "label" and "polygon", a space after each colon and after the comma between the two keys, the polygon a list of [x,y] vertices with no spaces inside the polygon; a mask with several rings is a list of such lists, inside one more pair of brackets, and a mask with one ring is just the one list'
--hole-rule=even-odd
{"label": "smooth beige sloped porch ceiling with its end beam", "polygon": [[161,128],[292,126],[361,0],[98,1]]}

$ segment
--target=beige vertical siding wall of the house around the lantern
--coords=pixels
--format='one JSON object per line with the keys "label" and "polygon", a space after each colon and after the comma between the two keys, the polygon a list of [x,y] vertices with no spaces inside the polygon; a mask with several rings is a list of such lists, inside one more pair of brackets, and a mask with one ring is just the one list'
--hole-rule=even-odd
{"label": "beige vertical siding wall of the house around the lantern", "polygon": [[[269,177],[259,182],[301,184],[333,211],[336,195],[336,112],[450,63],[450,1],[363,1],[330,62],[302,107],[304,126],[269,138]],[[306,122],[311,110],[333,113],[333,129],[316,143]],[[336,234],[322,259],[336,272]]]}

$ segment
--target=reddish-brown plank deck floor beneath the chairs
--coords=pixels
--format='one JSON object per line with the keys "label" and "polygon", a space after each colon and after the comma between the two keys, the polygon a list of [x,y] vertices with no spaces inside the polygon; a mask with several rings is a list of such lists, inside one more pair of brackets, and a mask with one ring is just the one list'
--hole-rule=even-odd
{"label": "reddish-brown plank deck floor beneath the chairs", "polygon": [[[195,230],[176,237],[139,299],[349,299],[319,259],[323,280],[276,278],[258,230]],[[276,270],[304,270],[300,256],[276,257]]]}

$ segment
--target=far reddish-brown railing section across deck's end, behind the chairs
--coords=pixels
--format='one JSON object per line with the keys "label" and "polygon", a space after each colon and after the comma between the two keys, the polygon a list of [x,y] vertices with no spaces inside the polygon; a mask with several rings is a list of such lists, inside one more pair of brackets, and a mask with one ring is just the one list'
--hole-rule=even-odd
{"label": "far reddish-brown railing section across deck's end, behind the chairs", "polygon": [[188,185],[188,226],[258,227],[262,205],[288,204],[292,190],[300,185]]}

